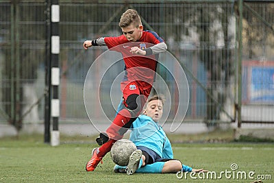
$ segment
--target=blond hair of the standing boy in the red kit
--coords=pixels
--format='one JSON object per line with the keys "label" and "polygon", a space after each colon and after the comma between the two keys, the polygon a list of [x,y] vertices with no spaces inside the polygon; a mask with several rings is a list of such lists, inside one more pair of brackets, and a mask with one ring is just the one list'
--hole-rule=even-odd
{"label": "blond hair of the standing boy in the red kit", "polygon": [[140,16],[136,10],[128,9],[125,11],[120,19],[119,26],[127,27],[130,24],[134,23],[136,27],[139,27],[139,25],[142,25],[142,21],[140,19]]}

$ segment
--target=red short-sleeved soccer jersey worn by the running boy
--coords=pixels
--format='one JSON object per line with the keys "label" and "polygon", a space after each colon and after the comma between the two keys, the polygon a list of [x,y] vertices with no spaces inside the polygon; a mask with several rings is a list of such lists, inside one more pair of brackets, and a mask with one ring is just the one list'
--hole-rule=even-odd
{"label": "red short-sleeved soccer jersey worn by the running boy", "polygon": [[132,47],[145,49],[160,42],[164,42],[158,34],[151,31],[143,31],[138,42],[129,42],[124,35],[118,37],[105,37],[105,44],[112,51],[122,53],[125,62],[125,81],[137,81],[143,88],[151,87],[157,68],[158,55],[138,56],[130,53]]}

